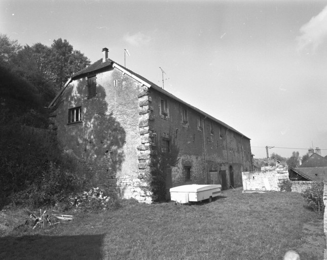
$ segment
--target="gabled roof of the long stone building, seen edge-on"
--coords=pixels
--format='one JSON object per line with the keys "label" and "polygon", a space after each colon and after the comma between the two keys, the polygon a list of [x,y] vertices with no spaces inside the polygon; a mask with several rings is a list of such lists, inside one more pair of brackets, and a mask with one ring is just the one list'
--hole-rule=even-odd
{"label": "gabled roof of the long stone building, seen edge-on", "polygon": [[66,84],[63,86],[63,88],[59,91],[59,93],[57,94],[56,98],[51,102],[51,104],[49,105],[48,108],[50,108],[54,103],[55,101],[58,99],[58,97],[60,96],[60,94],[63,92],[63,90],[67,87],[67,85],[69,85],[69,83],[72,81],[72,80],[75,80],[75,79],[78,79],[80,77],[83,77],[83,76],[87,76],[87,75],[92,75],[92,74],[96,74],[96,73],[99,73],[99,72],[102,72],[102,71],[105,71],[109,68],[117,68],[119,69],[120,71],[128,74],[130,77],[134,78],[135,80],[139,81],[140,83],[142,83],[143,85],[146,85],[147,87],[149,88],[153,88],[155,90],[157,90],[158,92],[160,93],[163,93],[167,96],[169,96],[169,98],[173,99],[173,100],[176,100],[178,102],[180,102],[181,104],[184,104],[185,106],[195,110],[196,112],[198,112],[199,114],[202,114],[205,116],[205,118],[209,118],[211,119],[212,121],[215,121],[223,126],[225,126],[227,129],[239,134],[242,136],[242,138],[246,138],[246,139],[249,139],[248,137],[244,136],[242,133],[238,132],[236,129],[234,129],[233,127],[229,126],[228,124],[210,116],[209,114],[201,111],[200,109],[197,109],[196,107],[193,107],[192,105],[186,103],[185,101],[181,100],[181,99],[178,99],[176,96],[174,96],[173,94],[169,93],[168,91],[162,89],[161,87],[159,87],[158,85],[154,84],[153,82],[149,81],[148,79],[136,74],[135,72],[121,66],[119,63],[107,58],[104,62],[102,61],[102,59],[99,59],[97,61],[95,61],[94,63],[92,63],[90,66],[88,66],[87,68],[85,68],[84,70],[81,70],[77,73],[75,73],[74,75],[72,75],[72,77],[66,82]]}

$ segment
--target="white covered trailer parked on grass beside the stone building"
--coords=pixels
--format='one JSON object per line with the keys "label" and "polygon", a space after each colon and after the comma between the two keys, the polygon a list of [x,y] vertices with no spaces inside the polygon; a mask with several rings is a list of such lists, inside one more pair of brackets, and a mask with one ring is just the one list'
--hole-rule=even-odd
{"label": "white covered trailer parked on grass beside the stone building", "polygon": [[222,185],[190,184],[170,188],[170,199],[176,203],[212,201],[212,198],[222,194]]}

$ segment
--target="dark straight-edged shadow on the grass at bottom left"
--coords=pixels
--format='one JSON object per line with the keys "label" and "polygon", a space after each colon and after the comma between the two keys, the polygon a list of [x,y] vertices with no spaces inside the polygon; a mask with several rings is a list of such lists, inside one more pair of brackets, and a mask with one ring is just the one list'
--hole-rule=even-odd
{"label": "dark straight-edged shadow on the grass at bottom left", "polygon": [[0,238],[0,259],[102,259],[101,235]]}

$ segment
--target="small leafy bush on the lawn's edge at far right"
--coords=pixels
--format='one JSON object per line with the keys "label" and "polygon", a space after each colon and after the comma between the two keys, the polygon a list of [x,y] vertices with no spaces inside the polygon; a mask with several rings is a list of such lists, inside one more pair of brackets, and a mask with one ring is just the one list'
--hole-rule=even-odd
{"label": "small leafy bush on the lawn's edge at far right", "polygon": [[302,196],[308,206],[318,214],[318,217],[323,216],[323,182],[314,182],[310,188],[307,188]]}

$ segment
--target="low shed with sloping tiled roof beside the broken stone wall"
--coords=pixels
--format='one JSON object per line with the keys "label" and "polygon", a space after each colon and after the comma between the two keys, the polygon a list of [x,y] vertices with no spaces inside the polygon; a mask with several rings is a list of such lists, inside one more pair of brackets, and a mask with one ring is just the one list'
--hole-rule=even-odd
{"label": "low shed with sloping tiled roof beside the broken stone wall", "polygon": [[327,181],[327,167],[289,168],[289,179],[297,181]]}

